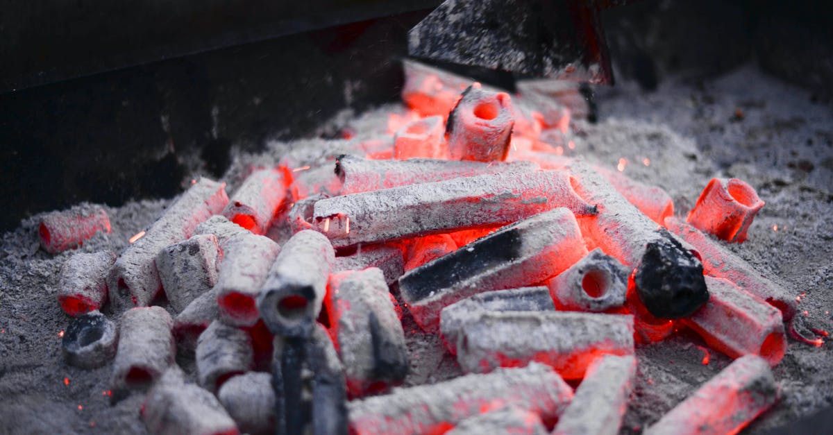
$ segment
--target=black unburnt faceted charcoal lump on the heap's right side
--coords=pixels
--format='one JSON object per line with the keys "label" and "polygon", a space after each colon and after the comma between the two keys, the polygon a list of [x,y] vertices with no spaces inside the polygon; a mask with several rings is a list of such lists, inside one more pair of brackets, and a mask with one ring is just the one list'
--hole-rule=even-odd
{"label": "black unburnt faceted charcoal lump on the heap's right side", "polygon": [[709,300],[703,263],[665,228],[657,232],[636,266],[636,294],[656,318],[690,316]]}

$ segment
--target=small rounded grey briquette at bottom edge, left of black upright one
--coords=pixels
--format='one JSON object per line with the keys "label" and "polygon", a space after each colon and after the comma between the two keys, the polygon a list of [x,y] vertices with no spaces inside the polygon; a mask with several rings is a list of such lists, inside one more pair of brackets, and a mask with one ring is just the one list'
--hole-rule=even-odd
{"label": "small rounded grey briquette at bottom edge, left of black upright one", "polygon": [[275,392],[269,373],[249,372],[222,384],[217,398],[242,433],[275,433]]}

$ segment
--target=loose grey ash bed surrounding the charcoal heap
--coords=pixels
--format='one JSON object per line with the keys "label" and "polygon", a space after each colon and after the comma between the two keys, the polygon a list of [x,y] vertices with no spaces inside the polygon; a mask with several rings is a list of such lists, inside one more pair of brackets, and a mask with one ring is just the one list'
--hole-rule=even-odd
{"label": "loose grey ash bed surrounding the charcoal heap", "polygon": [[[833,109],[752,66],[704,82],[666,78],[656,92],[629,82],[596,92],[600,121],[574,122],[576,147],[565,154],[613,170],[625,158],[623,172],[665,188],[683,217],[711,177],[750,183],[766,206],[746,243],[732,245],[732,251],[800,297],[799,309],[833,332],[826,314],[833,311]],[[275,163],[292,150],[350,148],[379,137],[391,112],[402,112],[402,106],[358,117],[345,112],[322,126],[322,132],[350,128],[357,132],[351,141],[269,143],[260,155],[234,153],[223,179],[227,191],[252,167]],[[112,233],[98,233],[79,250],[121,251],[169,203],[107,208]],[[0,433],[146,433],[139,418],[142,394],[110,405],[111,364],[83,370],[63,361],[58,334],[70,318],[58,306],[56,286],[72,253],[52,257],[39,249],[37,216],[0,238]],[[403,325],[412,359],[406,385],[461,374],[441,339],[421,333],[407,310]],[[704,365],[703,346],[694,334],[680,331],[637,348],[637,377],[621,433],[640,433],[730,363],[712,350]],[[813,348],[790,340],[788,346],[774,369],[781,402],[745,433],[766,433],[833,403],[833,343]],[[193,378],[192,359],[180,357],[178,363]]]}

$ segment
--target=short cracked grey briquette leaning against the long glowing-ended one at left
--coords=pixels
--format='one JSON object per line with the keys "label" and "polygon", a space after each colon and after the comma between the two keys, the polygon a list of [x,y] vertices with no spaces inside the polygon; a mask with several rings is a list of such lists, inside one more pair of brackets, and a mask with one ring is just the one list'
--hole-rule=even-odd
{"label": "short cracked grey briquette leaning against the long glowing-ended one at left", "polygon": [[197,235],[159,251],[159,279],[177,313],[217,283],[222,251],[213,234]]}

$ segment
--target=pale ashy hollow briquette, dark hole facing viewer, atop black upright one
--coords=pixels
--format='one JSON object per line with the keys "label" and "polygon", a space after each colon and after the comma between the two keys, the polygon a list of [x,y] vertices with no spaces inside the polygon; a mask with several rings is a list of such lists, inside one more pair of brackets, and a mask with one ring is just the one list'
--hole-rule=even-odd
{"label": "pale ashy hollow briquette, dark hole facing viewer, atop black upright one", "polygon": [[336,253],[321,233],[296,233],[277,254],[257,297],[263,322],[273,334],[308,337],[327,293]]}

